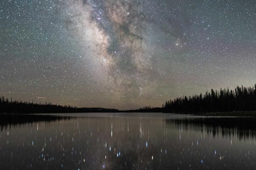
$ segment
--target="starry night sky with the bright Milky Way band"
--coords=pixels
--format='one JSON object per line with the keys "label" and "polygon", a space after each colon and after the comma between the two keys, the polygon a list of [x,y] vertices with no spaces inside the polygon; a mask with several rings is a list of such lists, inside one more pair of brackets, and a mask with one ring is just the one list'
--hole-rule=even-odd
{"label": "starry night sky with the bright Milky Way band", "polygon": [[255,83],[255,0],[0,2],[5,97],[134,109]]}

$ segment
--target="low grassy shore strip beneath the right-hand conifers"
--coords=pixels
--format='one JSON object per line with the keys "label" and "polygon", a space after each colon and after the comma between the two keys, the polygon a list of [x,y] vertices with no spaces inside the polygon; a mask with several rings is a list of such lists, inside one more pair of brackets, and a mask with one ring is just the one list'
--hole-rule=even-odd
{"label": "low grassy shore strip beneath the right-hand conifers", "polygon": [[196,116],[256,116],[256,111],[232,111],[232,112],[210,112],[196,113]]}

